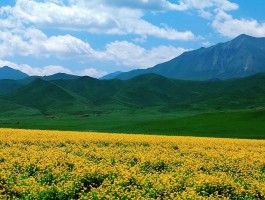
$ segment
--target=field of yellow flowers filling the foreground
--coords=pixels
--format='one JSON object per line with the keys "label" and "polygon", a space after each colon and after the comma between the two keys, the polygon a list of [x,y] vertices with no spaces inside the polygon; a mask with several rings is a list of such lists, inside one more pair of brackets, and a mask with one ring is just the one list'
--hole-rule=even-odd
{"label": "field of yellow flowers filling the foreground", "polygon": [[265,141],[0,129],[0,199],[265,199]]}

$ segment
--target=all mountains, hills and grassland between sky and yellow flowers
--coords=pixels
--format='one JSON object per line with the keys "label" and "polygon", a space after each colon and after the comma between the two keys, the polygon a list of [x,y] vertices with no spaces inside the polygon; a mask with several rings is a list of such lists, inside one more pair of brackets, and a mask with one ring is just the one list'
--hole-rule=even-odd
{"label": "all mountains, hills and grassland between sky and yellow flowers", "polygon": [[0,68],[0,127],[264,139],[265,38],[95,79]]}

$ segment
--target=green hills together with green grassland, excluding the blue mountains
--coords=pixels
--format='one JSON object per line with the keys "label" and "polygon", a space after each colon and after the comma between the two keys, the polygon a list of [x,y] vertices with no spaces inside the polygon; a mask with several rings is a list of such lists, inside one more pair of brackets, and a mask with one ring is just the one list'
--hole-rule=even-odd
{"label": "green hills together with green grassland, excluding the blue mountains", "polygon": [[261,139],[264,82],[263,73],[224,81],[156,74],[129,80],[0,80],[5,85],[0,126]]}

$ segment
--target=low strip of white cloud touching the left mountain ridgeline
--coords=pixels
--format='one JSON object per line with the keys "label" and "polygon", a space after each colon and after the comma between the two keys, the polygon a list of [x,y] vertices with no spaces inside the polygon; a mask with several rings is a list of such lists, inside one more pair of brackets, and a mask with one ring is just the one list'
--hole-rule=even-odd
{"label": "low strip of white cloud touching the left mountain ridgeline", "polygon": [[97,70],[95,68],[87,68],[82,71],[71,71],[63,66],[59,65],[48,65],[45,67],[32,67],[27,64],[16,64],[14,62],[1,60],[0,67],[9,66],[13,69],[18,69],[30,76],[48,76],[56,73],[66,73],[66,74],[75,74],[79,76],[90,76],[94,78],[99,78],[107,74],[105,71]]}

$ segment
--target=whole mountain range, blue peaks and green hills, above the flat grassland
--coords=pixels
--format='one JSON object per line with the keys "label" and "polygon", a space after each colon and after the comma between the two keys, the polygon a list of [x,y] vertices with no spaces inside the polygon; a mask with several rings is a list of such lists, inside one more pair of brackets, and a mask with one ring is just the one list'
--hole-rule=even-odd
{"label": "whole mountain range, blue peaks and green hills, above the flat grassland", "polygon": [[260,108],[265,106],[265,73],[258,72],[263,71],[265,38],[247,35],[103,80],[64,73],[28,76],[5,66],[0,68],[0,114]]}

